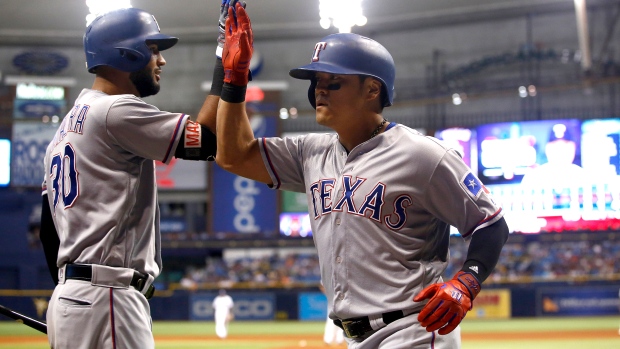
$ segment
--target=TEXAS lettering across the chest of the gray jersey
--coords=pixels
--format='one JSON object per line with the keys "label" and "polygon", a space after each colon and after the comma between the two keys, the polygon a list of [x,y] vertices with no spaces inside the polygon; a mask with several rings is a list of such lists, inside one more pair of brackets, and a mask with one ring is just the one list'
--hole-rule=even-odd
{"label": "TEXAS lettering across the chest of the gray jersey", "polygon": [[346,212],[363,216],[379,223],[385,224],[392,230],[401,229],[407,222],[407,207],[412,204],[411,196],[402,194],[394,200],[394,207],[391,213],[383,215],[385,204],[385,193],[387,186],[384,183],[377,183],[368,193],[357,193],[358,197],[365,195],[362,204],[357,207],[353,197],[365,178],[353,178],[350,175],[342,177],[342,196],[333,197],[335,179],[320,179],[312,183],[310,192],[312,193],[312,208],[314,219],[331,212]]}

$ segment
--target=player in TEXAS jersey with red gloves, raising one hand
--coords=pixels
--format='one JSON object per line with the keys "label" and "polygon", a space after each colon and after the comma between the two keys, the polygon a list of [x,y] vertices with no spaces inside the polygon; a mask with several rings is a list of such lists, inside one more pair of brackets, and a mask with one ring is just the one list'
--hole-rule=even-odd
{"label": "player in TEXAS jersey with red gloves, raising one hand", "polygon": [[[217,163],[307,194],[329,316],[349,348],[460,348],[459,323],[508,237],[501,208],[458,152],[383,118],[394,61],[360,35],[324,37],[309,50],[310,64],[289,72],[310,80],[316,121],[337,134],[255,139],[243,102],[252,28],[240,6],[232,15]],[[463,268],[446,281],[450,225],[471,242]]]}

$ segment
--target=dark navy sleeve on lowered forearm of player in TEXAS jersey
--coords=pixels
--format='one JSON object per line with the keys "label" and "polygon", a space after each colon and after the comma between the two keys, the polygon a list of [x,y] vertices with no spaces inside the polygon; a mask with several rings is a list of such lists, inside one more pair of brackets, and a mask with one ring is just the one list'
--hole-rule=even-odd
{"label": "dark navy sleeve on lowered forearm of player in TEXAS jersey", "polygon": [[502,247],[508,240],[508,225],[504,218],[474,233],[462,271],[470,272],[483,282],[499,260]]}

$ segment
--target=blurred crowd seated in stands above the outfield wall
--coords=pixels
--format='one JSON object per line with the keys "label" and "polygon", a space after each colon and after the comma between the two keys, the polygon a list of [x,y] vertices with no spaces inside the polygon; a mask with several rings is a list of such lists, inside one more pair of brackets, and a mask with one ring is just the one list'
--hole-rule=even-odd
{"label": "blurred crowd seated in stands above the outfield wall", "polygon": [[[451,278],[464,262],[468,243],[451,238]],[[576,241],[517,241],[504,246],[488,283],[620,279],[620,239]],[[303,287],[320,282],[318,257],[312,251],[259,257],[211,258],[192,266],[178,281],[187,289],[199,287]]]}

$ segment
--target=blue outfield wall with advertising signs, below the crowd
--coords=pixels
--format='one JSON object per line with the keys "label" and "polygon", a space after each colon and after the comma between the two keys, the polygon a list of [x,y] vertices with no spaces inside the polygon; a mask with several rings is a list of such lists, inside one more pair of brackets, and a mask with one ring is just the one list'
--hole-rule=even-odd
{"label": "blue outfield wall with advertising signs, below the crowd", "polygon": [[[561,317],[620,315],[620,283],[546,283],[483,290],[469,317]],[[153,320],[212,320],[217,290],[159,291],[151,299]],[[327,317],[325,296],[315,288],[230,290],[237,320],[317,321]],[[0,304],[44,320],[51,291],[0,290]],[[9,320],[0,318],[0,320]]]}

